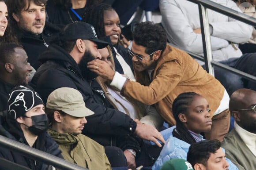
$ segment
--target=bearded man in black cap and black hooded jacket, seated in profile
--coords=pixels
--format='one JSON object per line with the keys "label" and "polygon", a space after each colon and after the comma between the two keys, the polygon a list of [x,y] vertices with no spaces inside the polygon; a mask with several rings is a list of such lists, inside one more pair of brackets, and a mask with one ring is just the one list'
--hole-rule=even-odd
{"label": "bearded man in black cap and black hooded jacket, seated in profile", "polygon": [[57,88],[71,87],[79,90],[87,108],[95,113],[86,118],[88,123],[84,126],[83,134],[103,146],[117,146],[123,151],[129,149],[136,155],[141,151],[140,140],[134,137],[138,136],[161,147],[157,139],[163,143],[165,141],[158,130],[131,119],[123,112],[106,107],[103,98],[98,98],[86,81],[97,76],[87,69],[87,62],[101,59],[98,48],[107,45],[105,41],[98,40],[90,24],[75,22],[66,25],[60,35],[61,47],[53,44],[39,57],[43,64],[34,75],[31,86],[38,91],[44,102]]}

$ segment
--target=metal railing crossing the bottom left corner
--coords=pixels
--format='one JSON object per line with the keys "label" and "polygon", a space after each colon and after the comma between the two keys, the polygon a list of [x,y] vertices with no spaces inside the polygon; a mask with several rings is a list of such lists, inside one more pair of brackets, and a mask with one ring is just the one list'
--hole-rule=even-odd
{"label": "metal railing crossing the bottom left corner", "polygon": [[24,156],[30,159],[38,160],[42,163],[52,165],[55,168],[59,168],[61,170],[88,170],[84,167],[78,166],[74,163],[70,163],[64,159],[50,155],[46,152],[42,152],[38,149],[24,145],[22,143],[11,140],[1,135],[0,135],[0,146],[6,147],[11,151],[22,153]]}

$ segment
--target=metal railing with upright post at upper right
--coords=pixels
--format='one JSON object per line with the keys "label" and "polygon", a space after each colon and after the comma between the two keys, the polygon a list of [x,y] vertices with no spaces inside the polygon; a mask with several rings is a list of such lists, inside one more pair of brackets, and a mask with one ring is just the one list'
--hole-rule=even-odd
{"label": "metal railing with upright post at upper right", "polygon": [[[200,14],[200,24],[201,24],[201,33],[202,33],[202,40],[203,40],[203,55],[204,57],[192,53],[190,51],[188,54],[192,55],[192,57],[197,58],[201,61],[205,62],[205,67],[207,72],[211,75],[214,75],[213,66],[217,66],[223,69],[226,69],[230,72],[233,72],[239,76],[242,76],[248,80],[252,80],[256,82],[256,76],[252,76],[246,72],[242,72],[240,70],[234,69],[212,59],[212,50],[211,50],[211,35],[209,32],[209,22],[208,22],[208,15],[207,15],[207,8],[213,11],[219,12],[231,18],[237,19],[238,21],[245,22],[249,25],[256,26],[256,18],[248,17],[248,15],[243,14],[241,12],[235,11],[229,7],[222,6],[210,0],[188,0],[192,3],[198,4],[199,14]],[[179,47],[180,48],[180,47]]]}

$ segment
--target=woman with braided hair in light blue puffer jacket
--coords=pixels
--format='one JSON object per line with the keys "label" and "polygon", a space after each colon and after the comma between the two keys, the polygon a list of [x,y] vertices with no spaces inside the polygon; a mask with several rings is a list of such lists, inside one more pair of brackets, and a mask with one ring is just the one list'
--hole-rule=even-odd
{"label": "woman with braided hair in light blue puffer jacket", "polygon": [[[176,127],[166,141],[160,156],[152,167],[160,170],[163,163],[173,158],[187,158],[188,148],[191,144],[204,140],[202,132],[211,130],[211,109],[205,98],[194,92],[185,92],[173,101],[173,116]],[[168,130],[168,129],[167,129]],[[237,167],[227,159],[230,170]]]}

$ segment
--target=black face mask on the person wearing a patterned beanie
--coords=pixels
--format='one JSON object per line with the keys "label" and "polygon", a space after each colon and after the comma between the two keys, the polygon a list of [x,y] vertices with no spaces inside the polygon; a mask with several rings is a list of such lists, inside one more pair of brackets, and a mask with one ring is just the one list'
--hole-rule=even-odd
{"label": "black face mask on the person wearing a patterned beanie", "polygon": [[32,134],[39,135],[48,129],[49,122],[46,114],[41,114],[41,115],[31,116],[31,117],[24,116],[24,117],[32,119],[32,126],[31,127],[27,126],[28,130]]}

